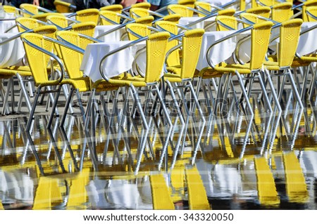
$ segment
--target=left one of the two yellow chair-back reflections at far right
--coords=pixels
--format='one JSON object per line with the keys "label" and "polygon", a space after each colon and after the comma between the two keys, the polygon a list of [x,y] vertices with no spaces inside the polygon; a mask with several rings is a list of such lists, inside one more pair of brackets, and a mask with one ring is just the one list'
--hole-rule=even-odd
{"label": "left one of the two yellow chair-back reflections at far right", "polygon": [[279,204],[278,192],[276,191],[273,173],[264,157],[254,159],[256,170],[257,188],[261,204]]}

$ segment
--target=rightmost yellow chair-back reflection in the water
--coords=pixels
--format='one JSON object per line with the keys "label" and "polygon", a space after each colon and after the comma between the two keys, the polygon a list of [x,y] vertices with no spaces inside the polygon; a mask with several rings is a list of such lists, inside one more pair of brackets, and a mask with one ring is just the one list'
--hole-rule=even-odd
{"label": "rightmost yellow chair-back reflection in the water", "polygon": [[294,152],[283,154],[286,192],[290,202],[306,202],[308,191],[304,174]]}

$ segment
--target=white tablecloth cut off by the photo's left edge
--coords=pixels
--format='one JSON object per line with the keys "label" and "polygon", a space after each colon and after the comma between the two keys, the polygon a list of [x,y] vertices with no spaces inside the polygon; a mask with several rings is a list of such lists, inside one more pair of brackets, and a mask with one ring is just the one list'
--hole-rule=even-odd
{"label": "white tablecloth cut off by the photo's left edge", "polygon": [[[0,41],[4,41],[13,35],[15,33],[0,34]],[[20,38],[0,45],[0,67],[19,65],[24,55],[25,51]]]}

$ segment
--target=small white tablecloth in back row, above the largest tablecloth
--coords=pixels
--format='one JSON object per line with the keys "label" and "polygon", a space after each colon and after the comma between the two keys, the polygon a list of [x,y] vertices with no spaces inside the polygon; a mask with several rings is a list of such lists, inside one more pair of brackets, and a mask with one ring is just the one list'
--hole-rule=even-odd
{"label": "small white tablecloth in back row, above the largest tablecloth", "polygon": [[[94,37],[98,37],[100,34],[103,34],[104,32],[107,32],[108,30],[114,29],[118,26],[119,25],[99,25],[94,28]],[[101,41],[120,41],[124,33],[125,28],[121,28],[114,32],[111,32],[110,34],[107,34],[106,36],[100,37],[99,39]]]}

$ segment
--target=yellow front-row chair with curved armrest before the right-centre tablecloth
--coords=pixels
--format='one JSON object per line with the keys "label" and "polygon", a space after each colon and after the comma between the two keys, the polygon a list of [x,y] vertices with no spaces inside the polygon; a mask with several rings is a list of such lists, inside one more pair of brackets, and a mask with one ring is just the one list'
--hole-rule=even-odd
{"label": "yellow front-row chair with curved armrest before the right-centre tablecloth", "polygon": [[[266,90],[263,86],[263,80],[261,79],[261,69],[263,67],[263,61],[268,51],[268,41],[271,35],[271,27],[273,22],[262,22],[260,24],[255,24],[254,26],[250,27],[251,29],[251,55],[250,55],[250,62],[245,63],[244,65],[240,64],[226,64],[225,62],[221,63],[220,65],[212,65],[209,62],[211,67],[205,67],[199,72],[200,79],[212,79],[214,77],[223,77],[223,74],[236,74],[239,80],[240,88],[242,89],[242,93],[244,95],[244,100],[247,103],[247,107],[249,108],[249,112],[251,115],[254,115],[253,109],[249,102],[249,97],[247,94],[246,89],[244,88],[244,84],[242,81],[241,74],[250,74],[251,77],[255,78],[258,77],[260,81],[260,86],[262,88],[263,94],[266,95]],[[240,34],[240,32],[236,32],[235,34]],[[227,37],[228,38],[228,37]],[[220,39],[216,41],[213,45],[209,47],[207,53],[213,48],[214,45],[218,44],[220,41],[224,39]],[[218,88],[222,88],[218,86]],[[218,98],[218,96],[217,96]],[[268,102],[267,95],[265,97],[266,103],[268,107],[271,108],[271,103]],[[213,113],[216,114],[218,102],[214,103]]]}

